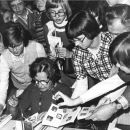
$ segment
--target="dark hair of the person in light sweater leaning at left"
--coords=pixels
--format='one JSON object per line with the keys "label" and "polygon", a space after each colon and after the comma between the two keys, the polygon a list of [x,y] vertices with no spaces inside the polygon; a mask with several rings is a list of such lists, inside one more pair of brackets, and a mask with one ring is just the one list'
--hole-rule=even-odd
{"label": "dark hair of the person in light sweater leaning at left", "polygon": [[3,43],[5,48],[8,48],[13,43],[23,42],[24,46],[28,45],[28,38],[26,37],[26,31],[19,23],[10,23],[10,26],[6,28],[3,33]]}

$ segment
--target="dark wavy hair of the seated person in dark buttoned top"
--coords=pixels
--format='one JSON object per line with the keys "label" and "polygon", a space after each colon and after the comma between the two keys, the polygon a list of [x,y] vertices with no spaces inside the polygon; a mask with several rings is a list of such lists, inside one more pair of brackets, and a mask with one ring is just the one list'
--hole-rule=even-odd
{"label": "dark wavy hair of the seated person in dark buttoned top", "polygon": [[32,79],[35,78],[38,72],[45,72],[48,76],[48,79],[53,83],[56,83],[61,78],[60,70],[56,64],[56,62],[48,59],[48,58],[37,58],[30,65],[30,76]]}

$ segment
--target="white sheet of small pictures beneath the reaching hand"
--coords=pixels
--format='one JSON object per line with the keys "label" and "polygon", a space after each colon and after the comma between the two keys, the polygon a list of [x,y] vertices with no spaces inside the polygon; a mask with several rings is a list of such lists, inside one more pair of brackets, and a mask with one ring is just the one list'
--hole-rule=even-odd
{"label": "white sheet of small pictures beneath the reaching hand", "polygon": [[[57,108],[57,111],[54,111],[54,108]],[[60,109],[59,106],[52,104],[42,120],[42,125],[57,128],[70,122],[74,122],[80,110],[80,107]]]}

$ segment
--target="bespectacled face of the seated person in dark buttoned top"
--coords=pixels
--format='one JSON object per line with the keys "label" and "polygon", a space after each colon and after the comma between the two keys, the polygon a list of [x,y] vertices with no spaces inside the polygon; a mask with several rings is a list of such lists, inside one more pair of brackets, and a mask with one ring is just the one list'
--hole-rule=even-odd
{"label": "bespectacled face of the seated person in dark buttoned top", "polygon": [[50,81],[45,72],[38,72],[35,81],[40,91],[46,91],[50,88]]}

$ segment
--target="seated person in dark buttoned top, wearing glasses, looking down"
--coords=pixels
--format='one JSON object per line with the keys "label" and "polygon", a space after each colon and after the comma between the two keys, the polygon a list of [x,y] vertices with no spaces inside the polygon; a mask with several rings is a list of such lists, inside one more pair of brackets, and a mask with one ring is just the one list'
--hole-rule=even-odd
{"label": "seated person in dark buttoned top, wearing glasses, looking down", "polygon": [[31,114],[46,112],[53,102],[52,95],[62,91],[71,96],[71,89],[60,82],[60,70],[57,64],[48,58],[37,58],[30,65],[30,75],[33,83],[20,97],[19,109],[27,116],[30,108]]}

